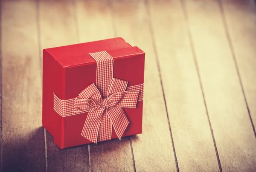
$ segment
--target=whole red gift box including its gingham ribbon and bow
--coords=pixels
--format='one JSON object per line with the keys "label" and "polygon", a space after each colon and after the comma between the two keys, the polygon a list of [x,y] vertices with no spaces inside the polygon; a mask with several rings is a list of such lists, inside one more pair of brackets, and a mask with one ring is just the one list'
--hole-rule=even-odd
{"label": "whole red gift box including its gingham ribbon and bow", "polygon": [[144,62],[122,38],[44,49],[42,124],[58,147],[142,133]]}

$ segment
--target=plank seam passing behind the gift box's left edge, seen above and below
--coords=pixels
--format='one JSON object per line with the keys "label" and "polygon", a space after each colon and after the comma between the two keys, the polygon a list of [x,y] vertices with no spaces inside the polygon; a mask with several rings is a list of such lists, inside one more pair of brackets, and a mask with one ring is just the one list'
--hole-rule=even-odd
{"label": "plank seam passing behind the gift box's left edge, seen above and below", "polygon": [[[41,30],[40,30],[40,22],[39,22],[39,0],[36,0],[36,24],[37,24],[37,35],[38,35],[38,49],[39,49],[39,65],[40,65],[40,77],[41,77],[41,87],[43,87],[43,72],[42,72],[42,54],[41,54]],[[44,152],[45,152],[45,170],[48,170],[48,159],[47,159],[47,138],[46,138],[46,130],[44,128]]]}

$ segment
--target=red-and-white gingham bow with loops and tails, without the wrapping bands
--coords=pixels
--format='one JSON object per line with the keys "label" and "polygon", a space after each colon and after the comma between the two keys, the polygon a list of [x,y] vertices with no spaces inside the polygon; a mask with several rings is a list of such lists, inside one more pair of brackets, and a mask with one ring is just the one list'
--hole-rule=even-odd
{"label": "red-and-white gingham bow with loops and tails, without the wrapping bands", "polygon": [[111,140],[112,125],[121,139],[128,119],[122,107],[136,108],[139,90],[125,91],[128,82],[113,78],[106,97],[102,97],[97,87],[92,84],[85,88],[74,102],[74,112],[89,111],[81,135],[97,143]]}

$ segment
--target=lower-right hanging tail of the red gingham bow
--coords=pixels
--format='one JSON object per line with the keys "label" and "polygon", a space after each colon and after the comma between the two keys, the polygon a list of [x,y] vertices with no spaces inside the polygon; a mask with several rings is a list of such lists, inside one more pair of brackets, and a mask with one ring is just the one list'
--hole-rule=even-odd
{"label": "lower-right hanging tail of the red gingham bow", "polygon": [[121,139],[126,127],[129,124],[129,121],[126,118],[125,113],[122,110],[122,107],[109,107],[107,113],[109,118],[111,119],[117,137]]}

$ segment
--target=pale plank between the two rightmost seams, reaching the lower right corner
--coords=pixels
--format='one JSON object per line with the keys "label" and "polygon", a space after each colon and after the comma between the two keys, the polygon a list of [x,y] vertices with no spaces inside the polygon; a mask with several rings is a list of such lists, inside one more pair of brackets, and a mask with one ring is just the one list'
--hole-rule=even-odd
{"label": "pale plank between the two rightmost seams, reaching the lower right corner", "polygon": [[220,6],[212,0],[184,5],[222,169],[255,171],[256,139]]}

